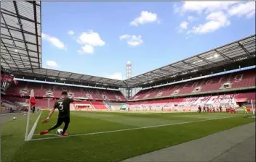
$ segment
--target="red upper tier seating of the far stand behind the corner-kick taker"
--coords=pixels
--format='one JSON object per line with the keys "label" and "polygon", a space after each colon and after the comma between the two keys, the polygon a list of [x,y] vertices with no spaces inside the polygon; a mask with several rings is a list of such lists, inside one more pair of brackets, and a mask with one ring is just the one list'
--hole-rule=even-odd
{"label": "red upper tier seating of the far stand behind the corner-kick taker", "polygon": [[63,90],[68,91],[74,97],[90,98],[105,101],[127,101],[124,95],[118,90],[101,90],[93,88],[78,88],[65,85],[50,85],[39,82],[19,82],[8,88],[7,95],[29,95],[30,90],[34,90],[35,97],[60,98]]}

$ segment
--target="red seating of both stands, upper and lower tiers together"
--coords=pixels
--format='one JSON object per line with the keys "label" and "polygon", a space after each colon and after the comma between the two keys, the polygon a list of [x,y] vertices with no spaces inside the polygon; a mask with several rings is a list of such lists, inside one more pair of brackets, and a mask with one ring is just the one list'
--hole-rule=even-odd
{"label": "red seating of both stands, upper and lower tiers together", "polygon": [[225,107],[236,102],[248,103],[255,98],[255,92],[237,93],[236,90],[254,86],[255,69],[249,69],[140,90],[127,102],[127,98],[118,90],[20,81],[10,85],[6,95],[2,95],[1,110],[17,110],[17,106],[28,106],[28,95],[33,89],[39,108],[49,108],[60,98],[61,92],[67,90],[73,97],[87,98],[82,103],[71,104],[73,111],[196,111],[198,106]]}

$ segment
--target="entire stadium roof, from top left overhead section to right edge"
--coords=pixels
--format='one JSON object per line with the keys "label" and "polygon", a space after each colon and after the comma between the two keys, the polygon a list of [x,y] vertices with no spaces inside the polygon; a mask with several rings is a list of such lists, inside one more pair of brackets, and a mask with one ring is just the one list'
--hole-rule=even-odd
{"label": "entire stadium roof, from top left overhead section to right edge", "polygon": [[127,80],[44,69],[41,61],[41,2],[1,1],[1,69],[19,77],[134,88],[251,58],[255,59],[255,35]]}

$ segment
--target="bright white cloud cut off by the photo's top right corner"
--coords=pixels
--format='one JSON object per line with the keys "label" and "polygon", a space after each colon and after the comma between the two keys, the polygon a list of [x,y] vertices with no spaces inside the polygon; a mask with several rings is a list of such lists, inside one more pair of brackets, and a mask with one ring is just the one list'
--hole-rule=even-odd
{"label": "bright white cloud cut off by the photo's top right corner", "polygon": [[236,4],[228,10],[228,14],[231,16],[246,16],[251,18],[255,16],[255,1],[249,1],[243,4]]}

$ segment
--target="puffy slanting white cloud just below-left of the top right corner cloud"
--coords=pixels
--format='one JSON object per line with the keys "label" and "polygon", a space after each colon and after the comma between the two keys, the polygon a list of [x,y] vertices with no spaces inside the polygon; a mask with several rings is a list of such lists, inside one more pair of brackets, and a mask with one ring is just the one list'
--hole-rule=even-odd
{"label": "puffy slanting white cloud just below-left of the top right corner cloud", "polygon": [[226,27],[231,24],[223,12],[212,12],[207,16],[208,22],[197,27],[193,27],[191,33],[204,34],[214,32],[221,27]]}

